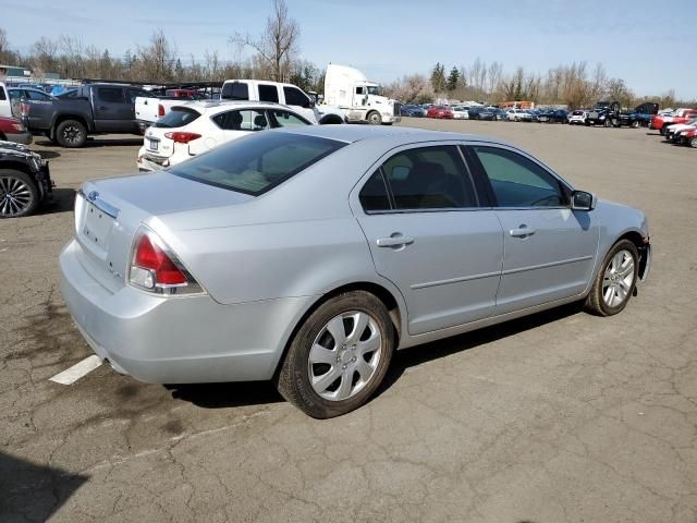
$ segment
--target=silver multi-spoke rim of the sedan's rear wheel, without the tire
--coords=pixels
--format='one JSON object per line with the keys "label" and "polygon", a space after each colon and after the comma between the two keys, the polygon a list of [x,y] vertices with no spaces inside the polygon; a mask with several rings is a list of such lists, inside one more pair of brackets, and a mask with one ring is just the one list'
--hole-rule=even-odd
{"label": "silver multi-spoke rim of the sedan's rear wheel, without the tire", "polygon": [[307,362],[315,392],[330,401],[357,394],[372,379],[382,355],[382,335],[367,313],[334,316],[313,343]]}

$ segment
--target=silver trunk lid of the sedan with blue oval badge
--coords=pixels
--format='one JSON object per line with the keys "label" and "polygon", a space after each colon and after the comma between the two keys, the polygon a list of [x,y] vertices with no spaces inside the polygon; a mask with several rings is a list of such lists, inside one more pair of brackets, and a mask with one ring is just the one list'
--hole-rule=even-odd
{"label": "silver trunk lid of the sedan with blue oval badge", "polygon": [[147,223],[160,235],[158,216],[242,204],[253,196],[160,171],[85,182],[75,198],[75,238],[85,269],[117,292],[126,281],[133,239]]}

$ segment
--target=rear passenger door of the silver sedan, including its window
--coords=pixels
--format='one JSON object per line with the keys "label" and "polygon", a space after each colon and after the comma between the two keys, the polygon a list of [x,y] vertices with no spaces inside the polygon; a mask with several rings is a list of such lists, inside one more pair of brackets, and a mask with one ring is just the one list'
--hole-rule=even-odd
{"label": "rear passenger door of the silver sedan, including its window", "polygon": [[503,233],[496,211],[478,207],[457,146],[393,154],[356,192],[376,270],[402,292],[411,335],[493,313]]}

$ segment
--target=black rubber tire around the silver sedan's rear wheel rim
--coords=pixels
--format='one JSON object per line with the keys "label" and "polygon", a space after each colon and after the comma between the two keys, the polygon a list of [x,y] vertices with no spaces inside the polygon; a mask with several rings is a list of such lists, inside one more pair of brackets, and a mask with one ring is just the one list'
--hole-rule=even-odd
{"label": "black rubber tire around the silver sedan's rear wheel rim", "polygon": [[[371,377],[355,394],[341,401],[325,399],[315,391],[310,382],[310,372],[314,372],[310,370],[311,365],[309,364],[310,349],[332,318],[354,311],[367,314],[375,321],[377,330],[382,337],[379,360]],[[394,345],[394,326],[380,300],[365,291],[339,294],[322,303],[301,326],[281,365],[277,387],[283,398],[311,417],[326,419],[346,414],[368,401],[380,386],[392,360]],[[337,365],[340,365],[339,358],[337,358]],[[341,370],[337,370],[341,373]],[[327,370],[327,373],[329,372],[331,369]],[[352,373],[351,379],[353,380],[356,376],[359,377],[358,374]],[[337,380],[343,379],[342,376],[337,378]]]}

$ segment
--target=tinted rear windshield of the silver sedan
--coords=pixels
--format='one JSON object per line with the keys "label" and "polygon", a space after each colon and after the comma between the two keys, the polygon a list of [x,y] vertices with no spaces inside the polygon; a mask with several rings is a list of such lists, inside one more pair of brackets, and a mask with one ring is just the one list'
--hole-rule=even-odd
{"label": "tinted rear windshield of the silver sedan", "polygon": [[258,196],[344,145],[333,139],[266,131],[217,147],[169,172]]}

